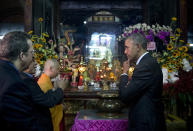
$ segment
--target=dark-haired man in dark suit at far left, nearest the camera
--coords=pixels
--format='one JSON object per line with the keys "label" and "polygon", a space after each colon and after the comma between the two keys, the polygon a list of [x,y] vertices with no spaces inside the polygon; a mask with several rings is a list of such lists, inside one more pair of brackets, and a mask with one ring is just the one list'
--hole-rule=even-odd
{"label": "dark-haired man in dark suit at far left, nearest the camera", "polygon": [[0,42],[0,128],[2,131],[38,131],[30,90],[19,72],[32,61],[28,34],[7,33]]}

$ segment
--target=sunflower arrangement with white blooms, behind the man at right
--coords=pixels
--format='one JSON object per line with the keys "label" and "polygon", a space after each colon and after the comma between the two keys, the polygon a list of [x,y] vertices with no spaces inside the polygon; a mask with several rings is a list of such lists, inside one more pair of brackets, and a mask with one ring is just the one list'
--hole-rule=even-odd
{"label": "sunflower arrangement with white blooms, behind the man at right", "polygon": [[[172,18],[172,24],[176,22],[176,18]],[[162,66],[163,83],[174,83],[179,79],[178,71],[182,69],[186,72],[192,70],[190,61],[192,56],[188,53],[189,43],[185,43],[180,39],[180,28],[174,29],[173,33],[170,33],[169,43],[166,50],[162,54],[157,54],[158,63]]]}

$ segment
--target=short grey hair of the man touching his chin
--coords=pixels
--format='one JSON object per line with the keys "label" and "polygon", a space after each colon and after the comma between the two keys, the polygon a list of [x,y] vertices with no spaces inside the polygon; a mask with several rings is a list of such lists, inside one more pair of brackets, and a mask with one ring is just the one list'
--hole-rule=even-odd
{"label": "short grey hair of the man touching his chin", "polygon": [[147,49],[147,39],[141,33],[133,33],[128,36],[125,40],[130,39],[134,44],[139,44],[143,47],[143,49]]}

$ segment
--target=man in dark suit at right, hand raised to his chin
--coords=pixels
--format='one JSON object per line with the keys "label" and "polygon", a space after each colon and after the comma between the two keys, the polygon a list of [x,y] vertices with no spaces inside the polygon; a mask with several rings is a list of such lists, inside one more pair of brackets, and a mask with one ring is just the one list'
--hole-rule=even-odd
{"label": "man in dark suit at right, hand raised to his chin", "polygon": [[[163,76],[157,61],[146,51],[146,38],[135,33],[125,40],[125,54],[120,78],[120,99],[129,104],[129,131],[166,130],[164,107],[161,102]],[[128,70],[131,63],[136,66],[130,81]]]}

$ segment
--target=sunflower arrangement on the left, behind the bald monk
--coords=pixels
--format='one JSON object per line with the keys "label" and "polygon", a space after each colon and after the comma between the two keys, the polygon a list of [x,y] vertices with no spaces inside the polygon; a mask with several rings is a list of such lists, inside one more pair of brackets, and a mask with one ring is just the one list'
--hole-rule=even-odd
{"label": "sunflower arrangement on the left, behind the bald monk", "polygon": [[33,48],[35,51],[35,60],[40,65],[40,70],[43,69],[44,63],[48,58],[58,58],[57,53],[54,48],[56,44],[53,40],[49,40],[49,34],[47,32],[42,32],[42,22],[43,18],[39,18],[41,33],[40,36],[33,34],[33,31],[29,31],[28,34],[31,35],[31,40],[33,42]]}

